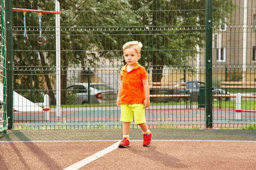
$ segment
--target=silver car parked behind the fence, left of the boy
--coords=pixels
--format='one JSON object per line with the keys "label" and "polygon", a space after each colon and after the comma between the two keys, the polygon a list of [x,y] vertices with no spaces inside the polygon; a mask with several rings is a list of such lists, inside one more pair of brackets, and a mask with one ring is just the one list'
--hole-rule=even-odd
{"label": "silver car parked behind the fence, left of the boy", "polygon": [[[77,83],[67,87],[67,95],[75,105],[85,103],[113,104],[116,103],[118,91],[103,83]],[[89,98],[90,97],[90,98]]]}

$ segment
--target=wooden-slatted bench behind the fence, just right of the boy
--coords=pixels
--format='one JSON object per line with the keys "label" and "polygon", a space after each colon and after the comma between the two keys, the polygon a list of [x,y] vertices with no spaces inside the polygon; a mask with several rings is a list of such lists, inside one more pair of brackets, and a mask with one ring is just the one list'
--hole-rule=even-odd
{"label": "wooden-slatted bench behind the fence, just right of the boy", "polygon": [[[149,82],[149,88],[151,90],[186,89],[186,82]],[[186,91],[186,94],[150,94],[149,96],[150,97],[156,97],[156,98],[163,98],[163,97],[170,97],[170,98],[171,97],[179,97],[179,98],[184,98],[186,103],[188,101],[190,101],[190,108],[192,108],[189,92],[190,91]],[[188,108],[188,103],[187,103],[186,106],[187,106],[186,108]]]}

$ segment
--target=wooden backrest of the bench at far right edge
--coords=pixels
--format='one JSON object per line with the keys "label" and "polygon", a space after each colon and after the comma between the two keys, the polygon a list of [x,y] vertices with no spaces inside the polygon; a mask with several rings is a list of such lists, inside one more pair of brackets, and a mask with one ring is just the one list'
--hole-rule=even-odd
{"label": "wooden backrest of the bench at far right edge", "polygon": [[256,88],[256,82],[221,82],[221,88]]}

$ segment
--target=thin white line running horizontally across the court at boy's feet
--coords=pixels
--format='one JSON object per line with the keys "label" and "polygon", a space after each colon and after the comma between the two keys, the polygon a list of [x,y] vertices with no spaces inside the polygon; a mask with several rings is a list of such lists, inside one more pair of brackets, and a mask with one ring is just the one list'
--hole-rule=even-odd
{"label": "thin white line running horizontally across the court at boy's feet", "polygon": [[[68,141],[0,141],[0,143],[13,143],[13,142],[116,142],[120,140],[68,140]],[[143,141],[143,140],[130,140],[130,141]],[[255,141],[243,141],[243,140],[194,140],[194,139],[163,139],[152,141],[166,141],[166,142],[256,142]]]}

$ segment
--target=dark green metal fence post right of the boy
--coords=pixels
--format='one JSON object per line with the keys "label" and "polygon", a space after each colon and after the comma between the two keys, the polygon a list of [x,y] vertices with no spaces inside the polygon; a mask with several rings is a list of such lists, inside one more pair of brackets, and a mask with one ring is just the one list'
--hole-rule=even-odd
{"label": "dark green metal fence post right of the boy", "polygon": [[205,39],[205,116],[206,127],[212,127],[212,0],[206,1],[206,39]]}

